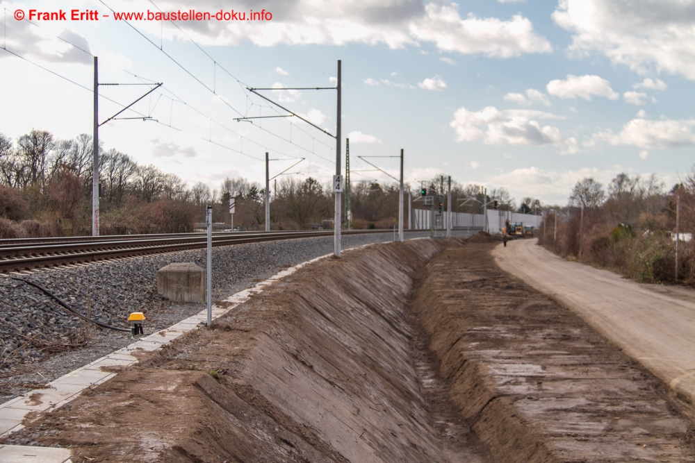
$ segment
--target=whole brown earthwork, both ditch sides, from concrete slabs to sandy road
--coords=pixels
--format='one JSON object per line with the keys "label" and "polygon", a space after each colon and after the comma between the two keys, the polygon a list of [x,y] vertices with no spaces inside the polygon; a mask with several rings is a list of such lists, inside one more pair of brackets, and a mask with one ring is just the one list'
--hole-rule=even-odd
{"label": "whole brown earthwork, both ditch sides, from concrete slabs to sandy road", "polygon": [[695,461],[690,405],[494,245],[305,267],[6,443],[79,463]]}

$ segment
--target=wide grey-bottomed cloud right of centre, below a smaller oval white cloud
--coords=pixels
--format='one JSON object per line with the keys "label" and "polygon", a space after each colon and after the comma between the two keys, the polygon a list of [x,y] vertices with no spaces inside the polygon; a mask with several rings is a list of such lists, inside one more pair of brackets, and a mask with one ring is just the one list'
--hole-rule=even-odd
{"label": "wide grey-bottomed cloud right of centre, below a smaller oval white cloud", "polygon": [[450,126],[458,142],[485,144],[521,144],[557,146],[562,154],[578,152],[574,137],[563,137],[557,127],[541,126],[540,119],[560,119],[549,112],[535,110],[498,110],[488,106],[473,112],[459,108]]}

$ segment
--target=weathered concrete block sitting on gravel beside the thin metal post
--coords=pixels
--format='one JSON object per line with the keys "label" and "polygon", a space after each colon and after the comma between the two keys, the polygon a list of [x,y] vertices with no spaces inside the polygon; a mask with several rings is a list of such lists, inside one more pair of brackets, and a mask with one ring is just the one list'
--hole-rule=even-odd
{"label": "weathered concrete block sitting on gravel beside the thin metal post", "polygon": [[174,262],[157,271],[157,292],[174,302],[205,303],[205,270]]}

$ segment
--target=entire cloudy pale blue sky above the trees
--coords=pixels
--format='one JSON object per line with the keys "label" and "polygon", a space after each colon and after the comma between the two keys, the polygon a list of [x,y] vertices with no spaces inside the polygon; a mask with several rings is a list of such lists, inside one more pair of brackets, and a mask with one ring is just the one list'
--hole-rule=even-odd
{"label": "entire cloudy pale blue sky above the trees", "polygon": [[[259,90],[270,103],[248,89],[335,87],[338,60],[341,159],[344,172],[348,137],[353,181],[393,181],[357,156],[379,156],[366,159],[398,178],[403,149],[414,190],[443,174],[505,187],[517,201],[564,204],[584,177],[606,185],[623,171],[655,173],[670,188],[695,164],[695,1],[0,6],[0,133],[14,140],[33,128],[58,139],[91,134],[97,56],[100,123],[163,84],[119,116],[140,119],[100,127],[104,148],[189,186],[218,188],[227,176],[263,183],[265,152],[271,177],[304,158],[278,178],[328,183],[336,140],[323,131],[336,134],[336,90]],[[154,16],[190,10],[211,19]],[[252,10],[262,16],[232,19]],[[116,17],[131,12],[153,19]],[[323,131],[285,117],[275,103]]]}

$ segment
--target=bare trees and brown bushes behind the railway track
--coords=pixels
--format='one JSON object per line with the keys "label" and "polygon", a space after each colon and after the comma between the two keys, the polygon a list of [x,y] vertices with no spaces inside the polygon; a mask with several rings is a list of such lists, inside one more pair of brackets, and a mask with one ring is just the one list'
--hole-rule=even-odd
{"label": "bare trees and brown bushes behind the railway track", "polygon": [[[245,178],[227,178],[219,188],[199,182],[189,187],[174,174],[154,165],[140,165],[117,149],[99,148],[101,184],[100,233],[186,233],[204,222],[206,205],[213,221],[230,224],[229,199],[236,199],[234,227],[265,228],[265,190]],[[447,183],[436,176],[424,184],[435,203],[446,203]],[[273,230],[317,228],[334,218],[331,185],[314,178],[285,176],[270,185]],[[412,186],[414,208],[421,185]],[[398,220],[398,185],[362,181],[352,184],[352,228],[391,228]],[[504,188],[485,196],[479,185],[452,182],[452,210],[481,213],[484,203],[501,210],[537,210],[525,198],[517,207]],[[0,237],[90,235],[92,201],[92,136],[56,140],[47,131],[32,130],[13,142],[0,133]],[[343,204],[344,207],[344,204]],[[407,207],[407,203],[406,203]],[[429,206],[427,206],[429,207]],[[343,213],[343,219],[345,214]],[[343,224],[344,226],[344,224]]]}

